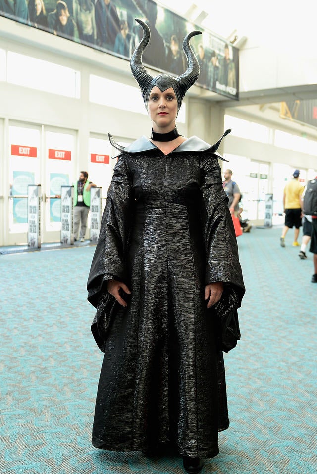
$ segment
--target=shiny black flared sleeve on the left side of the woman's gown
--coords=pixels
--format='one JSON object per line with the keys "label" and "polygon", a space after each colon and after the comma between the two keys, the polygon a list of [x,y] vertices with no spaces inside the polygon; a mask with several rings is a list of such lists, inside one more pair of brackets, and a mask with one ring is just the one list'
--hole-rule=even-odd
{"label": "shiny black flared sleeve on the left side of the woman's gown", "polygon": [[122,155],[114,167],[101,230],[87,282],[88,301],[96,308],[107,295],[106,281],[129,284],[126,253],[133,203],[132,178]]}

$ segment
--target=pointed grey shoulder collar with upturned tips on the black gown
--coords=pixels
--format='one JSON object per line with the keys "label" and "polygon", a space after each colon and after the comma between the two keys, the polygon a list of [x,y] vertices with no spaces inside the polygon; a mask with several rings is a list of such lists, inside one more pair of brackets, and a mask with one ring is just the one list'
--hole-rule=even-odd
{"label": "pointed grey shoulder collar with upturned tips on the black gown", "polygon": [[[222,137],[214,144],[210,145],[209,143],[205,142],[204,140],[201,140],[197,136],[192,136],[185,140],[183,143],[181,143],[175,150],[173,150],[172,153],[181,153],[181,152],[210,152],[214,155],[216,155],[218,158],[220,158],[223,161],[225,160],[220,153],[217,153],[217,149],[219,148],[219,145],[221,143],[221,140],[228,135],[231,132],[231,130],[226,130]],[[131,154],[136,154],[136,153],[142,153],[150,150],[154,150],[157,147],[150,142],[150,140],[145,137],[144,135],[141,138],[138,138],[134,142],[132,142],[130,145],[126,147],[122,147],[121,145],[118,145],[114,140],[113,137],[108,133],[109,141],[111,145],[119,150],[120,153],[117,155],[113,156],[112,158],[117,158],[118,156],[122,155],[123,153],[131,153]]]}

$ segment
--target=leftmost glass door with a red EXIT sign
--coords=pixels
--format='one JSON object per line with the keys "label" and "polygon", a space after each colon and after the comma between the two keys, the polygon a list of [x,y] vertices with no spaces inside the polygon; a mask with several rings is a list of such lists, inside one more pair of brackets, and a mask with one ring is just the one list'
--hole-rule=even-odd
{"label": "leftmost glass door with a red EXIT sign", "polygon": [[[9,123],[7,245],[27,243],[28,184],[41,184],[41,127]],[[43,189],[42,189],[43,191]]]}

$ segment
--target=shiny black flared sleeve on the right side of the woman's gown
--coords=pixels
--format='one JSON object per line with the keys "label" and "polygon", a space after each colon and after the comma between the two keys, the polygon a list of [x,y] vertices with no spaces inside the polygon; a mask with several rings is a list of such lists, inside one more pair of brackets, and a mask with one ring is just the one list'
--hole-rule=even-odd
{"label": "shiny black flared sleeve on the right side of the woman's gown", "polygon": [[222,297],[211,311],[218,316],[221,345],[230,350],[240,339],[237,308],[245,293],[238,246],[221,170],[214,155],[201,160],[202,221],[206,249],[205,284],[223,282]]}

